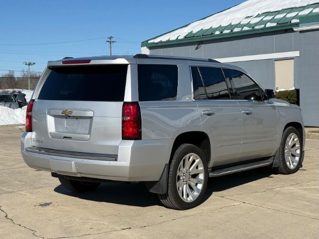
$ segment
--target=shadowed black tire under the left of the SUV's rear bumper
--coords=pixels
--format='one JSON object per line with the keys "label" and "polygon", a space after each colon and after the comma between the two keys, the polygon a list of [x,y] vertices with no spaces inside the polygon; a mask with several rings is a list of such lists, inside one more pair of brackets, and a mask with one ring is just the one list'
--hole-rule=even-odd
{"label": "shadowed black tire under the left of the SUV's rear bumper", "polygon": [[58,178],[63,187],[73,192],[91,192],[100,185],[98,182],[72,180],[61,175]]}

